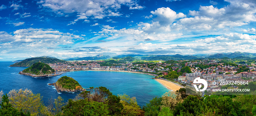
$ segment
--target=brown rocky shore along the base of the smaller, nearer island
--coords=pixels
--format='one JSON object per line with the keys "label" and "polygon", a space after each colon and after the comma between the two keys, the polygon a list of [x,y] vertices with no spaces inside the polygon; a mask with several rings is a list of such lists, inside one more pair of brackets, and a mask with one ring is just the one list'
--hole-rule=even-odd
{"label": "brown rocky shore along the base of the smaller, nearer island", "polygon": [[86,91],[86,89],[82,88],[81,86],[77,86],[75,89],[66,89],[66,88],[63,88],[61,84],[59,83],[52,83],[52,84],[48,84],[48,85],[53,85],[57,92],[63,92],[63,91],[67,91],[67,92],[75,92],[75,91]]}

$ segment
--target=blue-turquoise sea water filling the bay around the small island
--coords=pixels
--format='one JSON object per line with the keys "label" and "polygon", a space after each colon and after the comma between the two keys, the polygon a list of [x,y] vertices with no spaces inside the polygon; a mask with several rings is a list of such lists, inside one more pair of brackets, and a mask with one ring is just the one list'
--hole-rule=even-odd
{"label": "blue-turquoise sea water filling the bay around the small island", "polygon": [[69,76],[78,81],[83,88],[106,87],[113,95],[126,93],[130,97],[136,97],[138,104],[143,107],[149,103],[153,97],[161,97],[163,93],[170,91],[156,80],[151,79],[154,76],[129,73],[129,72],[111,72],[111,71],[74,71],[63,73],[52,77],[31,77],[18,74],[27,67],[8,67],[15,62],[0,62],[0,91],[4,94],[12,89],[27,88],[33,93],[40,93],[43,96],[44,104],[47,104],[48,98],[56,99],[61,96],[64,101],[73,99],[80,92],[62,92],[57,93],[54,86],[48,83],[55,83],[62,76]]}

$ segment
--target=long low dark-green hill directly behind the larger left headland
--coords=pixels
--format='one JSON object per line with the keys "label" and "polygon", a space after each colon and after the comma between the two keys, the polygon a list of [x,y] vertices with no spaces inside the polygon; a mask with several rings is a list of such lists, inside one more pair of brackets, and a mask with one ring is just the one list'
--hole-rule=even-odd
{"label": "long low dark-green hill directly behind the larger left headland", "polygon": [[46,63],[46,64],[52,64],[52,63],[67,63],[65,60],[56,59],[53,57],[33,57],[29,59],[22,60],[18,63],[14,63],[10,65],[10,67],[30,67],[34,63]]}

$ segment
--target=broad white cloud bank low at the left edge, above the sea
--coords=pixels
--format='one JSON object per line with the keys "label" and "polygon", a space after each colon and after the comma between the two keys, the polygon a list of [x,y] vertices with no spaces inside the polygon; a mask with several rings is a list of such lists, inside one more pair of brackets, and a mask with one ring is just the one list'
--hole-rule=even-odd
{"label": "broad white cloud bank low at the left edge, above the sea", "polygon": [[12,33],[0,32],[2,55],[29,56],[45,53],[51,54],[55,52],[58,45],[73,44],[76,39],[83,39],[81,36],[53,29],[27,28],[19,29]]}

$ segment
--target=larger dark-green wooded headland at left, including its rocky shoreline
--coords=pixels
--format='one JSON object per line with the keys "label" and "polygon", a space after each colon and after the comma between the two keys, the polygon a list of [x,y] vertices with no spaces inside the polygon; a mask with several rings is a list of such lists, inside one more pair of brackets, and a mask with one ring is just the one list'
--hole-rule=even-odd
{"label": "larger dark-green wooded headland at left, including its rocky shoreline", "polygon": [[19,74],[29,75],[33,77],[56,76],[54,72],[54,69],[52,69],[48,64],[38,62],[33,64],[31,67],[19,72]]}

